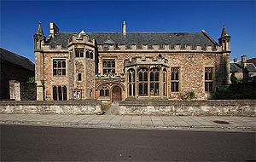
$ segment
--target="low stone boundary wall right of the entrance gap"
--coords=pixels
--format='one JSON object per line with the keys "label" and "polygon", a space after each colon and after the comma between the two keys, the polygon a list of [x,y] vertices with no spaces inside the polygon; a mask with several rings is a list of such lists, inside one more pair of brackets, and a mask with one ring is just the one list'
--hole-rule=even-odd
{"label": "low stone boundary wall right of the entrance gap", "polygon": [[120,115],[256,116],[256,100],[120,101]]}

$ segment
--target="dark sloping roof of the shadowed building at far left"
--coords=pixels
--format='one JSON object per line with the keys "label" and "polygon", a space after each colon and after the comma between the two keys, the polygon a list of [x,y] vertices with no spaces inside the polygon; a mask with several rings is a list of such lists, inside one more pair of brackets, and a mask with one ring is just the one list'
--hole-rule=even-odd
{"label": "dark sloping roof of the shadowed building at far left", "polygon": [[16,55],[15,53],[12,53],[9,50],[3,48],[0,48],[0,60],[9,61],[10,63],[26,68],[32,72],[35,71],[35,64],[32,63],[32,61],[28,60],[26,57]]}

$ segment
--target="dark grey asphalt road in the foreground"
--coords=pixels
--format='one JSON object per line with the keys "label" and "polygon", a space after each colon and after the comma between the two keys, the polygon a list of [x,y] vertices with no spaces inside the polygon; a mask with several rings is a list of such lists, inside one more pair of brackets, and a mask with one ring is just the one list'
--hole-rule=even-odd
{"label": "dark grey asphalt road in the foreground", "polygon": [[255,133],[1,126],[3,160],[253,160]]}

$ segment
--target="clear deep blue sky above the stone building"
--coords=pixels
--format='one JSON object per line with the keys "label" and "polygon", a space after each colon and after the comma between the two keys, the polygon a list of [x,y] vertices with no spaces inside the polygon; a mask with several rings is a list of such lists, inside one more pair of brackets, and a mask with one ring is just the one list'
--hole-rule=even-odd
{"label": "clear deep blue sky above the stone building", "polygon": [[231,55],[255,57],[254,0],[244,1],[3,1],[0,47],[34,62],[33,34],[53,21],[60,32],[201,32],[218,42],[222,26],[231,36]]}

